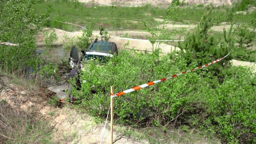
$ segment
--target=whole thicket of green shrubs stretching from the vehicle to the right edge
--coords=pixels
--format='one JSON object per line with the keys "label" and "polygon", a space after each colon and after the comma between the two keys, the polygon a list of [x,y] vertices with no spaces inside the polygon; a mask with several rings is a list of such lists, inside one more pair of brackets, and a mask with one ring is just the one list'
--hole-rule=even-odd
{"label": "whole thicket of green shrubs stretching from the vehicle to the right edge", "polygon": [[[194,60],[189,68],[196,65]],[[194,115],[192,125],[203,124],[202,128],[211,134],[218,133],[225,142],[253,141],[255,76],[248,69],[232,67],[227,69],[230,76],[218,84],[211,80],[210,67],[198,70],[200,74],[188,73],[116,97],[114,116],[123,123],[148,116],[140,120],[161,127],[182,120],[182,113],[189,111]],[[80,76],[82,92],[73,89],[73,94],[76,103],[86,111],[94,116],[106,116],[110,85],[117,93],[189,68],[186,60],[173,61],[169,55],[121,51],[103,66],[86,64]],[[246,135],[249,139],[245,139]]]}

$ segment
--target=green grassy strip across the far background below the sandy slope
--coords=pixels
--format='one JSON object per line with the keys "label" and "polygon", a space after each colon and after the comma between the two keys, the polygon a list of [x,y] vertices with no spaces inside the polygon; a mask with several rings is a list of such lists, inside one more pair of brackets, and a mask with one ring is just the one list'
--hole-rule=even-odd
{"label": "green grassy strip across the far background below the sandy slope", "polygon": [[[98,28],[97,25],[103,25],[105,28],[111,27],[113,20],[120,19],[121,27],[124,29],[142,29],[143,20],[146,20],[150,26],[157,26],[159,22],[154,20],[154,18],[163,18],[166,15],[166,9],[152,7],[150,5],[140,7],[119,7],[50,0],[46,2],[38,2],[32,7],[36,9],[35,14],[44,14],[48,11],[49,17],[54,20],[73,22],[86,26],[91,25],[94,28]],[[201,16],[206,10],[206,7],[176,7],[173,15],[177,15],[177,17],[172,20],[179,22],[185,22],[184,20],[187,20],[196,23],[197,21],[200,21]],[[212,11],[213,23],[218,25],[221,22],[230,22],[227,13],[230,11],[230,6],[214,7]],[[255,14],[256,11],[246,15],[235,14],[235,23],[250,24],[251,20],[255,18]],[[64,29],[76,30],[68,27]]]}

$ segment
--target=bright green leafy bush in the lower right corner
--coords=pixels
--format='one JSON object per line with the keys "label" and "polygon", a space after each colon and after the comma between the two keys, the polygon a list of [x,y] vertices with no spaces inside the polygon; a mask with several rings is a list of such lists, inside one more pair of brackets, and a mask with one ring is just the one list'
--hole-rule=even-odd
{"label": "bright green leafy bush in the lower right corner", "polygon": [[227,143],[256,142],[255,75],[249,69],[236,68],[215,90],[212,123]]}

